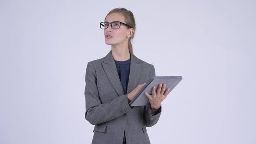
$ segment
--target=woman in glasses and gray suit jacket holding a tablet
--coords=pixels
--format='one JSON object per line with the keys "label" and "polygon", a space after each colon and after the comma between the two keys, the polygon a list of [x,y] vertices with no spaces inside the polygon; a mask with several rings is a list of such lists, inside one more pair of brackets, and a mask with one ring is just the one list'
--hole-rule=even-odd
{"label": "woman in glasses and gray suit jacket holding a tablet", "polygon": [[[152,88],[149,106],[130,107],[128,102],[155,76],[154,66],[133,55],[133,13],[111,10],[100,23],[111,50],[102,59],[88,62],[85,74],[85,119],[95,125],[92,144],[150,144],[146,127],[158,122],[161,102],[169,88]],[[138,85],[140,84],[140,85]]]}

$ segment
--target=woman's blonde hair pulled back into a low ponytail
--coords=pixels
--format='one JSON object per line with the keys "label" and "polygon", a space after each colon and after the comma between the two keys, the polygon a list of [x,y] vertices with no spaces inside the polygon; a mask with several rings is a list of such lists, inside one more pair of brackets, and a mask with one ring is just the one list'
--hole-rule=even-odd
{"label": "woman's blonde hair pulled back into a low ponytail", "polygon": [[[132,54],[133,50],[132,50],[131,40],[134,38],[135,28],[136,28],[136,23],[135,23],[135,18],[133,16],[133,13],[130,10],[126,10],[125,8],[115,8],[115,9],[111,10],[107,14],[107,16],[111,13],[121,13],[123,16],[125,16],[125,23],[134,29],[132,36],[129,37],[129,40],[128,40],[128,49],[129,49],[129,52]],[[105,20],[106,20],[107,16],[105,17]]]}

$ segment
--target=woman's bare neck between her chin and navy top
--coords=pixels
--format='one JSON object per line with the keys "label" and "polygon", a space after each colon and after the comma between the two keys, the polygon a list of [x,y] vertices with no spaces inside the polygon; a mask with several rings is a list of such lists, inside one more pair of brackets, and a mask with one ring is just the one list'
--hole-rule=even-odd
{"label": "woman's bare neck between her chin and navy top", "polygon": [[130,59],[130,52],[128,50],[128,44],[122,43],[119,46],[111,46],[112,56],[116,61],[126,61]]}

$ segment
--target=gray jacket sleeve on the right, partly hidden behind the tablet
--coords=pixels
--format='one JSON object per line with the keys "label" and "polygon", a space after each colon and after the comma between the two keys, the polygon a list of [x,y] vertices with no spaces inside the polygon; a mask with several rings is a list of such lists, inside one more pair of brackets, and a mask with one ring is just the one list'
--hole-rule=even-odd
{"label": "gray jacket sleeve on the right, partly hidden behind the tablet", "polygon": [[[152,76],[155,76],[154,65],[152,65],[149,78],[151,78]],[[152,115],[150,105],[144,106],[143,117],[144,117],[144,122],[146,127],[151,127],[158,122],[161,115],[161,111],[162,111],[162,106],[158,109],[156,115]]]}

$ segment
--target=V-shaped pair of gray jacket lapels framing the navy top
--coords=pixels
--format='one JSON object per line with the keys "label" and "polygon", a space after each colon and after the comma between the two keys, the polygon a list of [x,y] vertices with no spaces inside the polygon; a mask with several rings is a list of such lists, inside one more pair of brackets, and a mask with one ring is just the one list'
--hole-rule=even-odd
{"label": "V-shaped pair of gray jacket lapels framing the navy top", "polygon": [[[112,56],[111,50],[110,52],[108,52],[107,56],[104,57],[104,62],[102,62],[102,66],[108,77],[108,80],[111,82],[118,95],[124,95],[121,81],[119,79],[116,69],[115,60]],[[127,87],[127,94],[138,86],[138,80],[141,74],[141,67],[142,63],[139,61],[139,59],[131,54],[130,75]]]}

